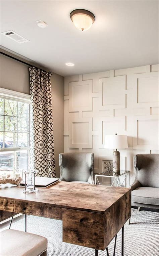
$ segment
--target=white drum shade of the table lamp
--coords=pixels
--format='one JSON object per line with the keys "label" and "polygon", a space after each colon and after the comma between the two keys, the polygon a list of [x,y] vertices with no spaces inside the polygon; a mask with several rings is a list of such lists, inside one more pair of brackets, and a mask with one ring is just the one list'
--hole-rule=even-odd
{"label": "white drum shade of the table lamp", "polygon": [[106,135],[104,148],[128,148],[126,135]]}

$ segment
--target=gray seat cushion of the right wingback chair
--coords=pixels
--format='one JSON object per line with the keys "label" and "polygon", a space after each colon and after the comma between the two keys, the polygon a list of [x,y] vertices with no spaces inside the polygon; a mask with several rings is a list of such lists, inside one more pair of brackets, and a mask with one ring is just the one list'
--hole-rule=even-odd
{"label": "gray seat cushion of the right wingback chair", "polygon": [[159,188],[138,187],[131,191],[132,202],[150,205],[159,205]]}

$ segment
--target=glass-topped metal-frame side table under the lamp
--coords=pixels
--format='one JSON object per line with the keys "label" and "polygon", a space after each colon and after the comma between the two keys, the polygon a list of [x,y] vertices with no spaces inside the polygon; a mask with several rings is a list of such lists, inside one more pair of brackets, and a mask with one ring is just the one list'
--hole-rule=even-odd
{"label": "glass-topped metal-frame side table under the lamp", "polygon": [[[122,182],[120,183],[120,177],[124,176],[124,180],[122,180]],[[100,184],[99,181],[99,177],[109,177],[110,178],[110,186],[115,185],[116,187],[121,187],[123,186],[124,182],[125,182],[125,187],[129,187],[130,186],[130,171],[123,171],[120,170],[120,172],[101,172],[98,174],[95,174],[95,184]],[[112,179],[111,179],[112,178]]]}

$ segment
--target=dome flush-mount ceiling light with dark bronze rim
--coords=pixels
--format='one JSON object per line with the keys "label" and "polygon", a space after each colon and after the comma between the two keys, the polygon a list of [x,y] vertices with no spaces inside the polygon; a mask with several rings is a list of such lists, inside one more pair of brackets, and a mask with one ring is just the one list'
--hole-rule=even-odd
{"label": "dome flush-mount ceiling light with dark bronze rim", "polygon": [[76,9],[71,11],[70,18],[74,26],[81,31],[90,29],[95,21],[94,14],[84,9]]}

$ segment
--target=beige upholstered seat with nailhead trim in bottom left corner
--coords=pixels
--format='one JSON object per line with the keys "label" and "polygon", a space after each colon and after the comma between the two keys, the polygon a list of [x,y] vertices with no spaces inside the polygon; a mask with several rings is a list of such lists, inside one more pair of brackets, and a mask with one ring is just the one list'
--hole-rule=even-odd
{"label": "beige upholstered seat with nailhead trim in bottom left corner", "polygon": [[0,232],[1,256],[38,256],[46,251],[45,237],[14,229]]}

